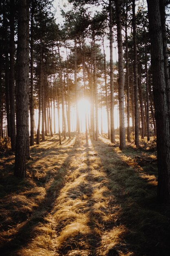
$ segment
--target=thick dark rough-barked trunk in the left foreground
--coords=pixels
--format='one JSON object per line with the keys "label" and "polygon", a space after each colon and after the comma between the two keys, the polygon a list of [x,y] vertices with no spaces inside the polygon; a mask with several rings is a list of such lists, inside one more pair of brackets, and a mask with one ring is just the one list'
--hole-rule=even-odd
{"label": "thick dark rough-barked trunk in the left foreground", "polygon": [[26,177],[29,112],[29,0],[18,2],[16,151],[14,175]]}

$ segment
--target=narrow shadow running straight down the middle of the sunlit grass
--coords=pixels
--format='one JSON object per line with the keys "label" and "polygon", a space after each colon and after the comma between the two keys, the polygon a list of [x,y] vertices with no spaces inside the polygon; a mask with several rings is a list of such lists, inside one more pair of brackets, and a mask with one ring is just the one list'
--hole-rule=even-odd
{"label": "narrow shadow running straight down the middle of the sunlit grass", "polygon": [[[72,237],[72,241],[74,241],[72,244],[69,241],[66,244],[64,244],[63,247],[61,247],[58,252],[61,255],[67,255],[68,253],[71,253],[74,251],[74,249],[79,248],[81,252],[83,253],[84,250],[86,250],[86,246],[88,245],[88,251],[90,251],[91,256],[96,256],[98,255],[97,249],[100,246],[101,243],[101,235],[99,232],[97,232],[97,229],[99,228],[99,225],[102,225],[102,220],[100,221],[99,218],[96,216],[96,209],[95,209],[95,203],[96,201],[94,200],[94,182],[95,177],[93,177],[93,172],[91,171],[91,157],[89,157],[89,151],[92,151],[93,149],[89,146],[88,142],[85,144],[85,152],[86,155],[85,160],[83,162],[86,163],[86,168],[82,168],[80,170],[80,175],[83,175],[84,181],[79,183],[77,186],[74,186],[74,189],[70,189],[67,191],[68,193],[68,198],[69,194],[71,194],[71,199],[76,200],[78,198],[85,198],[85,199],[80,199],[86,202],[86,207],[85,210],[84,208],[78,209],[79,213],[86,214],[88,221],[86,222],[86,226],[89,228],[90,232],[86,234],[84,237],[81,237],[79,234],[78,236]],[[85,175],[84,175],[85,174]],[[75,180],[73,180],[75,182]],[[81,191],[82,189],[82,191]],[[79,193],[77,193],[77,190],[80,190]],[[75,197],[73,197],[73,193],[75,193]],[[83,195],[82,195],[83,193]],[[95,221],[97,220],[97,221]],[[60,231],[62,231],[63,227],[58,229],[59,234]],[[85,245],[81,247],[79,245],[79,240],[83,240]],[[89,254],[88,254],[89,255]]]}

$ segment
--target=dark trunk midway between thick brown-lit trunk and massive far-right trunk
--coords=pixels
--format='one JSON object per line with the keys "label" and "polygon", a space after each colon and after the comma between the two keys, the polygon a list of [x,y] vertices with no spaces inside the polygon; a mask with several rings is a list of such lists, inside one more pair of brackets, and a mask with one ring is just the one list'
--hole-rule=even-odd
{"label": "dark trunk midway between thick brown-lit trunk and massive far-right trunk", "polygon": [[135,0],[132,0],[132,27],[133,27],[133,52],[134,52],[134,98],[135,98],[135,145],[139,147],[139,104],[137,85],[137,37],[136,37],[136,15]]}

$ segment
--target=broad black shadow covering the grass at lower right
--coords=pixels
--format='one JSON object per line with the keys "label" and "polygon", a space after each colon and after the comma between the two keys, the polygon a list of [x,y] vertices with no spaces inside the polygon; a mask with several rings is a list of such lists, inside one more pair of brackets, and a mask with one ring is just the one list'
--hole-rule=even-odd
{"label": "broad black shadow covering the grass at lower right", "polygon": [[[100,138],[93,146],[96,144],[100,146],[100,152],[103,151],[102,145],[108,145]],[[111,248],[107,255],[119,255],[118,250],[121,250],[124,253],[130,251],[137,256],[168,256],[170,209],[157,203],[156,186],[149,184],[141,173],[130,168],[121,158],[121,153],[109,147],[108,153],[117,159],[117,164],[114,163],[112,168],[105,171],[108,178],[119,187],[119,193],[114,190],[112,193],[120,205],[117,225],[124,225],[126,232],[121,235],[124,245]],[[122,154],[125,155],[125,150]],[[109,160],[107,155],[102,154],[101,162],[104,157]]]}

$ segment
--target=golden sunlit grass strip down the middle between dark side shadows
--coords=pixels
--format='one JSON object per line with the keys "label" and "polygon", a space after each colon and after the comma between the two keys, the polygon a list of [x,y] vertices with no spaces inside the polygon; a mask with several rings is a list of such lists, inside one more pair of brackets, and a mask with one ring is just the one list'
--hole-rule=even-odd
{"label": "golden sunlit grass strip down the middle between dark side shadows", "polygon": [[77,158],[79,171],[63,188],[55,215],[58,220],[56,230],[59,236],[59,255],[97,255],[96,249],[100,246],[99,212],[97,216],[94,198],[96,188],[89,157],[91,150],[86,142],[82,148],[83,156]]}

